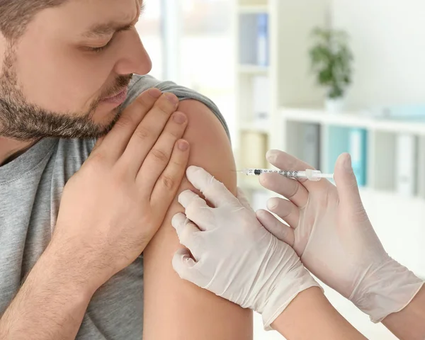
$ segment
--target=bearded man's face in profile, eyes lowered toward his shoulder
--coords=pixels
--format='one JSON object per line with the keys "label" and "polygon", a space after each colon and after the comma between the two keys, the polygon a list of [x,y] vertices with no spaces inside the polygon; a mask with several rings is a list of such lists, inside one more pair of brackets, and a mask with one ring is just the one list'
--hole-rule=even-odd
{"label": "bearded man's face in profile, eyes lowered toward his shoulder", "polygon": [[13,45],[0,34],[0,135],[34,140],[108,132],[132,74],[152,67],[134,28],[140,5],[69,0],[40,11]]}

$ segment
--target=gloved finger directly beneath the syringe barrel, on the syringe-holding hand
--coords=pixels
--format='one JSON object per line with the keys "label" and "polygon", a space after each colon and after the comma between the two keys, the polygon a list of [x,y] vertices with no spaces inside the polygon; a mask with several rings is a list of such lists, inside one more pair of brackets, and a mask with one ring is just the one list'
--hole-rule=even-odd
{"label": "gloved finger directly beneath the syringe barrel, on the syringe-holding hand", "polygon": [[288,200],[291,200],[297,207],[305,207],[308,201],[308,191],[299,181],[288,179],[280,174],[261,174],[261,185]]}

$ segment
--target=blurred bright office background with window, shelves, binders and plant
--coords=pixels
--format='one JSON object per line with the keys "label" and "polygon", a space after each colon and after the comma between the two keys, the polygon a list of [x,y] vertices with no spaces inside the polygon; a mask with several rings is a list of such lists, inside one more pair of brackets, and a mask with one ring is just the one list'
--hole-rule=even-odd
{"label": "blurred bright office background with window, shelves, binders and plant", "polygon": [[[425,277],[425,2],[145,0],[151,74],[217,103],[239,169],[283,149],[322,171],[350,152],[387,252]],[[303,169],[300,169],[303,170]],[[253,208],[271,193],[240,176]],[[331,245],[329,245],[331,246]],[[396,339],[325,288],[369,339]],[[281,339],[255,316],[255,340]]]}

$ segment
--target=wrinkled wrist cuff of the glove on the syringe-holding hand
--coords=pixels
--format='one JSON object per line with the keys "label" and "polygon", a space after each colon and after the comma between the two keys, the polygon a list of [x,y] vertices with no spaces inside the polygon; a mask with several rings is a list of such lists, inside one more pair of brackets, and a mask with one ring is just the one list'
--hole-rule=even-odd
{"label": "wrinkled wrist cuff of the glove on the syringe-holding hand", "polygon": [[424,280],[390,258],[373,273],[366,274],[349,300],[368,314],[370,321],[378,323],[409,305],[422,285]]}

